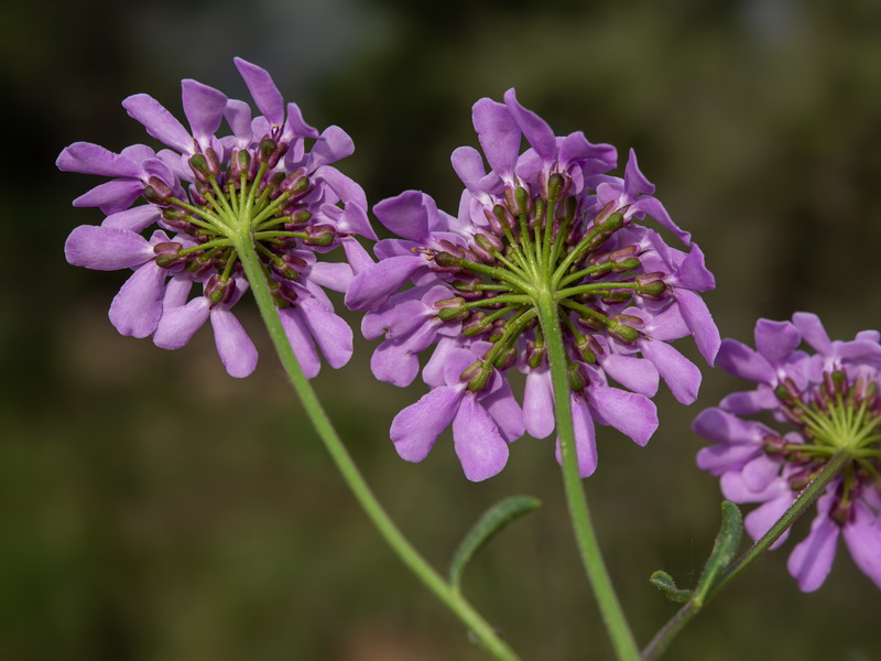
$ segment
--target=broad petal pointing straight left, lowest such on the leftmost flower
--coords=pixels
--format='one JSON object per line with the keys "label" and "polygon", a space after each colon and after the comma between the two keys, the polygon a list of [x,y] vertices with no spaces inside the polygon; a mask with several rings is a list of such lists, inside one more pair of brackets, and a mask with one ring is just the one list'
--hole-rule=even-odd
{"label": "broad petal pointing straight left, lowest such on the leftmost flower", "polygon": [[75,267],[117,271],[138,267],[155,253],[150,242],[133,231],[80,225],[67,237],[64,256]]}

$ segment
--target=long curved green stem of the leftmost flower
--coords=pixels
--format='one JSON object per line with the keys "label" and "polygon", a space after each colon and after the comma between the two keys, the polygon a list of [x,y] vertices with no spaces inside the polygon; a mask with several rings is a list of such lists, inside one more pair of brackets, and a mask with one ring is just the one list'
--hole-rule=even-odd
{"label": "long curved green stem of the leftmost flower", "polygon": [[481,647],[500,661],[518,661],[516,654],[499,638],[492,627],[455,588],[420,555],[404,538],[389,514],[373,496],[358,467],[355,465],[342,441],[334,430],[327,413],[318,401],[308,379],[303,373],[296,356],[287,342],[275,304],[272,301],[260,259],[253,247],[250,230],[244,229],[233,239],[244,273],[251,284],[260,314],[267,325],[275,350],[279,353],[287,377],[300,397],[315,431],[330,453],[346,484],[363,508],[367,516],[385,539],[401,561],[449,608],[468,629],[470,629]]}

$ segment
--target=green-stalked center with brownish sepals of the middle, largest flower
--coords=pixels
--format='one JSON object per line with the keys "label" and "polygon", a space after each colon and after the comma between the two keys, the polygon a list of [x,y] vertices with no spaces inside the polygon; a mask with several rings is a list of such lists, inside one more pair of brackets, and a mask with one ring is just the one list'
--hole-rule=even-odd
{"label": "green-stalked center with brownish sepals of the middle, largest flower", "polygon": [[461,322],[466,337],[492,346],[463,373],[471,390],[481,390],[492,368],[505,369],[518,357],[518,340],[530,333],[525,359],[539,367],[545,347],[537,327],[540,296],[552,295],[567,339],[569,386],[583,390],[589,382],[581,368],[594,364],[606,335],[632,344],[642,319],[621,311],[637,295],[663,300],[665,273],[645,273],[639,245],[611,240],[628,225],[614,203],[589,217],[583,197],[569,194],[572,180],[554,173],[547,191],[531,195],[507,187],[504,198],[486,208],[488,225],[466,246],[442,240],[431,251],[434,268],[455,274],[459,296],[440,301],[437,316]]}

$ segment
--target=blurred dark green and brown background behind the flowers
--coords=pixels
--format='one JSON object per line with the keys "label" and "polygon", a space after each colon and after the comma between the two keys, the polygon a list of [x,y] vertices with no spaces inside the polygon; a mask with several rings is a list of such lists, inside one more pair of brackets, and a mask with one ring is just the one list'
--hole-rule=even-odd
{"label": "blurred dark green and brown background behind the flowers", "polygon": [[[149,140],[119,106],[130,94],[178,116],[181,78],[248,98],[240,55],[307,121],[352,136],[341,169],[371,202],[422,188],[455,210],[448,158],[477,143],[470,106],[515,86],[557,133],[637,149],[716,273],[707,301],[722,336],[750,340],[758,316],[800,310],[834,336],[879,326],[874,0],[85,0],[6,3],[0,36],[3,660],[483,658],[365,521],[252,308],[237,313],[261,360],[238,381],[207,329],[175,353],[119,336],[107,308],[124,274],[65,263],[66,235],[101,216],[70,207],[97,180],[54,160],[77,140]],[[374,382],[370,351],[361,343],[315,386],[402,528],[443,567],[492,502],[541,497],[475,561],[466,592],[524,659],[610,659],[551,441],[519,441],[482,484],[463,477],[448,436],[405,464],[388,426],[423,390]],[[663,567],[694,584],[717,525],[690,420],[741,387],[708,370],[692,408],[663,392],[645,449],[600,432],[586,486],[641,641],[674,611],[648,576]],[[791,548],[732,585],[668,658],[881,659],[878,588],[841,546],[827,584],[802,595]]]}

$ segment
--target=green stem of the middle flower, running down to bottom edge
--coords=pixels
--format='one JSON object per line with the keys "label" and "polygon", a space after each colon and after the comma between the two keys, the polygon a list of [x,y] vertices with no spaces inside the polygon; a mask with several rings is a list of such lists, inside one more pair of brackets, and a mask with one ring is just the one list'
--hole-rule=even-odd
{"label": "green stem of the middle flower, running down to bottom edge", "polygon": [[536,296],[535,303],[539,311],[539,322],[547,345],[547,359],[551,364],[551,378],[554,387],[554,415],[563,456],[563,483],[581,562],[587,571],[590,587],[594,590],[602,621],[609,631],[618,659],[620,661],[639,661],[639,648],[624,618],[621,604],[618,602],[609,572],[602,560],[597,535],[590,521],[581,476],[578,472],[569,384],[566,377],[566,349],[563,345],[557,304],[550,292],[542,292],[541,295]]}

